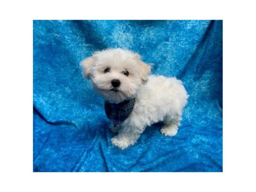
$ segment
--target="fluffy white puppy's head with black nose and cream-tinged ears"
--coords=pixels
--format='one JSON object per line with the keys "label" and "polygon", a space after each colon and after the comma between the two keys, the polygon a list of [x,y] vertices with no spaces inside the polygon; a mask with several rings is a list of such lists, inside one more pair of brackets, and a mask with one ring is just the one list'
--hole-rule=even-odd
{"label": "fluffy white puppy's head with black nose and cream-tinged ears", "polygon": [[119,103],[136,95],[151,67],[137,53],[122,49],[94,52],[81,62],[83,75],[105,100]]}

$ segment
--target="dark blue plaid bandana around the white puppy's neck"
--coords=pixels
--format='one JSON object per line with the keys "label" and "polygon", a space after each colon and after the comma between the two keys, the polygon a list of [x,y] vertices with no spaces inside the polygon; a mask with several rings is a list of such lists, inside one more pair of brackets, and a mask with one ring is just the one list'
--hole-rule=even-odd
{"label": "dark blue plaid bandana around the white puppy's neck", "polygon": [[135,98],[115,104],[105,101],[105,112],[114,127],[121,125],[129,117],[134,108]]}

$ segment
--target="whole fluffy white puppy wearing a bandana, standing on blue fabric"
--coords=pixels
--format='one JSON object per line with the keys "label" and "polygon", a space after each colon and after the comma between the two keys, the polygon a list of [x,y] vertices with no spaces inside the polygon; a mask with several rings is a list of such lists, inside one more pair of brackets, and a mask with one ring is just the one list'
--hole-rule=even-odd
{"label": "whole fluffy white puppy wearing a bandana, standing on blue fabric", "polygon": [[106,115],[112,121],[113,145],[121,150],[134,145],[146,126],[163,121],[161,133],[178,132],[188,94],[180,80],[150,75],[151,66],[129,50],[94,52],[81,62],[83,75],[104,98]]}

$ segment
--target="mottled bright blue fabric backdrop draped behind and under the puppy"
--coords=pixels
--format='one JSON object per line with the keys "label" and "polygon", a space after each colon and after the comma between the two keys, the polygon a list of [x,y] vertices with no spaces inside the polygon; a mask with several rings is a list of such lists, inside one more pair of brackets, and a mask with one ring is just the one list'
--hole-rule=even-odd
{"label": "mottled bright blue fabric backdrop draped behind and under the puppy", "polygon": [[[104,101],[79,62],[124,48],[176,76],[189,93],[174,137],[147,127],[111,145]],[[222,21],[34,21],[34,172],[222,172]]]}

